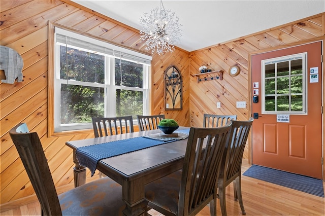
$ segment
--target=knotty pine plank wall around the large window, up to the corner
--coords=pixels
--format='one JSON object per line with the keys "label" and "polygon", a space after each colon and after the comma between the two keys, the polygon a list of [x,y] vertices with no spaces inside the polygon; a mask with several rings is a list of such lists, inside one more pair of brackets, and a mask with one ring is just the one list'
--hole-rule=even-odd
{"label": "knotty pine plank wall around the large window, up to the corner", "polygon": [[[93,137],[92,130],[77,135],[48,137],[49,21],[88,32],[141,52],[145,51],[138,30],[71,4],[59,0],[1,2],[0,45],[13,48],[22,56],[24,80],[14,84],[0,83],[0,203],[19,200],[34,194],[8,133],[12,127],[20,122],[26,122],[30,131],[38,132],[58,191],[73,187],[72,151],[65,146],[66,141]],[[165,113],[163,78],[164,70],[171,64],[175,64],[181,70],[184,80],[184,104],[188,104],[189,53],[177,49],[172,54],[154,55],[152,114]],[[0,78],[5,78],[3,70]],[[182,111],[171,111],[165,114],[167,118],[174,118],[180,125],[189,126],[188,106],[185,105]],[[87,181],[94,178],[89,178]]]}

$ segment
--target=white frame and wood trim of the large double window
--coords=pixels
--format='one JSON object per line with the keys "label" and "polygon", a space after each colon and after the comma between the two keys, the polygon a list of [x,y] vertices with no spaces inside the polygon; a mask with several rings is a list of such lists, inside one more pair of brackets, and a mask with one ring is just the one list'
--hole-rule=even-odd
{"label": "white frame and wood trim of the large double window", "polygon": [[[73,81],[73,80],[69,80],[69,84],[74,84],[74,85],[84,85],[86,84],[86,86],[95,86],[95,87],[104,87],[108,90],[108,92],[110,92],[111,94],[114,93],[114,98],[115,98],[115,92],[116,89],[122,89],[122,90],[136,90],[136,91],[142,91],[144,93],[144,97],[143,97],[143,115],[148,115],[149,113],[149,98],[150,98],[150,85],[149,82],[151,80],[151,60],[152,57],[149,56],[147,53],[138,51],[138,50],[132,50],[129,48],[125,48],[123,46],[117,46],[114,42],[108,41],[108,40],[103,40],[102,38],[98,38],[95,37],[94,35],[90,35],[87,34],[85,32],[80,32],[80,31],[76,31],[74,29],[68,28],[68,27],[64,27],[58,24],[54,24],[54,23],[49,23],[49,90],[48,90],[48,134],[49,137],[50,136],[58,136],[59,134],[76,134],[76,133],[84,133],[85,130],[89,131],[92,130],[92,124],[91,123],[81,123],[81,124],[66,124],[66,125],[61,125],[60,123],[60,105],[56,105],[57,103],[60,104],[60,86],[61,83],[67,83],[67,80],[61,80],[59,79],[60,74],[56,73],[55,68],[57,68],[59,66],[59,61],[55,62],[55,59],[59,59],[59,58],[55,58],[57,56],[55,55],[60,55],[59,52],[55,52],[55,49],[57,49],[56,45],[56,40],[55,40],[55,33],[57,33],[57,29],[59,29],[60,34],[62,34],[62,32],[69,32],[71,33],[71,35],[79,35],[81,38],[87,38],[92,42],[99,42],[99,44],[105,44],[113,49],[113,52],[116,51],[116,53],[121,53],[123,52],[123,54],[125,54],[126,58],[123,57],[119,57],[121,59],[127,60],[127,61],[133,61],[133,62],[137,62],[136,60],[131,60],[128,59],[127,56],[133,56],[133,55],[137,55],[139,56],[140,59],[145,59],[145,62],[150,62],[148,63],[144,63],[144,73],[143,73],[143,87],[142,89],[139,89],[138,87],[126,87],[126,86],[116,86],[114,83],[114,67],[115,67],[115,59],[118,59],[118,57],[109,57],[109,56],[105,56],[105,70],[110,69],[110,73],[108,73],[107,75],[109,76],[105,76],[105,83],[104,84],[94,84],[94,83],[89,83],[89,82],[80,82],[80,81]],[[88,41],[88,40],[87,40]],[[105,48],[106,50],[106,48]],[[117,55],[119,56],[119,55]],[[134,56],[135,59],[137,58],[136,56]],[[109,60],[109,62],[107,62],[107,60]],[[147,61],[148,60],[148,61]],[[58,76],[58,77],[57,77]],[[113,91],[111,91],[113,90]],[[59,95],[59,97],[58,97]],[[58,102],[57,102],[58,101]],[[116,100],[112,103],[108,103],[107,100],[107,95],[105,95],[104,98],[104,102],[105,102],[105,116],[107,116],[107,114],[109,112],[113,111],[115,112],[115,106],[116,106]],[[108,105],[109,104],[109,105]],[[59,124],[59,127],[57,127],[57,125]],[[137,124],[136,119],[134,119],[134,124]],[[65,129],[64,129],[65,128]]]}

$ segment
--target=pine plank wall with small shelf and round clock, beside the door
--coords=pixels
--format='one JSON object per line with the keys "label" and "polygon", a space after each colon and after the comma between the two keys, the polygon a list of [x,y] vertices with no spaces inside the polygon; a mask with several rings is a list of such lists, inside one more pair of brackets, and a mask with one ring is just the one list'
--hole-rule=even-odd
{"label": "pine plank wall with small shelf and round clock, beside the door", "polygon": [[[251,117],[249,81],[249,55],[285,48],[315,40],[323,40],[325,15],[318,14],[293,23],[247,35],[238,40],[225,42],[190,53],[190,124],[202,126],[203,114],[234,115],[243,121]],[[216,35],[217,37],[217,35]],[[199,67],[223,70],[222,80],[197,82]],[[238,65],[241,72],[232,77],[230,66]],[[217,109],[216,102],[221,103]],[[246,101],[246,109],[237,109],[236,101]],[[244,158],[250,159],[250,145],[246,145]],[[325,171],[325,170],[324,170]]]}

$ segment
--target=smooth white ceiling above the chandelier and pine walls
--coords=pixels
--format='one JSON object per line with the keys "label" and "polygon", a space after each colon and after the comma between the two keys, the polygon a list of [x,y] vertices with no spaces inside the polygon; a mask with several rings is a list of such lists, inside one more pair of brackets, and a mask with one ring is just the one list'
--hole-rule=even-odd
{"label": "smooth white ceiling above the chandelier and pine walls", "polygon": [[[139,30],[140,17],[160,6],[159,0],[73,2]],[[182,25],[181,43],[176,46],[189,52],[325,12],[325,0],[164,0],[163,4]]]}

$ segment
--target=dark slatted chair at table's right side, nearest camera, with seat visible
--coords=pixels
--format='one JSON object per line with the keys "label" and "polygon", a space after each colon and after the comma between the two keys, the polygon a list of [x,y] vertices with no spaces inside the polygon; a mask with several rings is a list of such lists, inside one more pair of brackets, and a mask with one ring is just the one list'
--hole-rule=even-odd
{"label": "dark slatted chair at table's right side, nearest camera, with seat visible", "polygon": [[190,128],[183,168],[145,186],[148,207],[164,215],[196,215],[208,203],[216,215],[216,180],[231,123]]}

